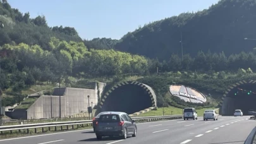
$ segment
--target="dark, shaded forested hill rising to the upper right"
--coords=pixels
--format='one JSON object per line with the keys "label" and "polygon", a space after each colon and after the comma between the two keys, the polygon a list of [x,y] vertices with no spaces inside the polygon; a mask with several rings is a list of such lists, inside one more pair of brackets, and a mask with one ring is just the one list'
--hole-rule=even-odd
{"label": "dark, shaded forested hill rising to the upper right", "polygon": [[169,60],[172,53],[194,57],[198,51],[222,52],[226,56],[252,51],[256,39],[256,1],[222,0],[197,13],[182,13],[154,21],[128,32],[114,46],[116,50]]}

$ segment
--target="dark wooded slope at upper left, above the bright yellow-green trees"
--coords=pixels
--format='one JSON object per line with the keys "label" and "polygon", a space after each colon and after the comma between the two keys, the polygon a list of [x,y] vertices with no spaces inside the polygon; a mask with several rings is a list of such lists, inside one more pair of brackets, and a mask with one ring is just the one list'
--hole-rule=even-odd
{"label": "dark wooded slope at upper left, above the bright yellow-green trees", "polygon": [[4,23],[4,28],[0,28],[0,45],[23,42],[49,50],[51,37],[82,42],[75,28],[49,27],[45,16],[30,18],[29,12],[22,14],[18,9],[11,8],[6,0],[0,1],[0,21]]}

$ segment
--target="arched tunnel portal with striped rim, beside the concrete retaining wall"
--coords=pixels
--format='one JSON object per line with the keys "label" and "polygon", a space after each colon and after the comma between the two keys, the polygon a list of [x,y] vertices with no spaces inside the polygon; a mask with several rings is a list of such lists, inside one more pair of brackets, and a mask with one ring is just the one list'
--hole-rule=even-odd
{"label": "arched tunnel portal with striped rim, beside the concrete retaining wall", "polygon": [[119,111],[133,114],[156,106],[156,95],[151,87],[137,81],[125,81],[106,92],[98,112]]}

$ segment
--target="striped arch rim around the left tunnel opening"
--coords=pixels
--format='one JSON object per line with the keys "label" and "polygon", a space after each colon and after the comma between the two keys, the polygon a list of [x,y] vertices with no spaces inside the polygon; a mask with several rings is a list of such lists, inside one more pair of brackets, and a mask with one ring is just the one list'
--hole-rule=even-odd
{"label": "striped arch rim around the left tunnel opening", "polygon": [[[149,97],[151,99],[151,102],[152,102],[152,107],[157,107],[157,100],[156,100],[156,95],[154,93],[154,90],[148,86],[148,85],[145,85],[144,83],[140,83],[138,81],[124,81],[124,82],[121,82],[121,83],[118,83],[117,85],[114,85],[114,87],[111,87],[105,94],[104,94],[104,97],[101,98],[101,102],[100,102],[100,105],[99,105],[99,111],[101,111],[102,109],[102,106],[104,105],[104,102],[106,101],[107,97],[114,91],[116,90],[118,87],[123,87],[125,85],[135,85],[137,87],[142,87],[148,94],[149,94]],[[150,87],[151,90],[148,88]],[[153,92],[152,92],[153,91]],[[97,112],[97,113],[98,113]]]}

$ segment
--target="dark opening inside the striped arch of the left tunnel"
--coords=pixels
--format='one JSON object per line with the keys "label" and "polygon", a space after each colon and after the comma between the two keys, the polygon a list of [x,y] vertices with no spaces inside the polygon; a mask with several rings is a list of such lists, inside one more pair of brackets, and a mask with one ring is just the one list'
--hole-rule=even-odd
{"label": "dark opening inside the striped arch of the left tunnel", "polygon": [[123,85],[109,93],[101,111],[119,111],[133,114],[152,107],[150,94],[138,85]]}

